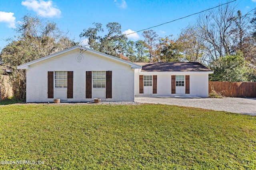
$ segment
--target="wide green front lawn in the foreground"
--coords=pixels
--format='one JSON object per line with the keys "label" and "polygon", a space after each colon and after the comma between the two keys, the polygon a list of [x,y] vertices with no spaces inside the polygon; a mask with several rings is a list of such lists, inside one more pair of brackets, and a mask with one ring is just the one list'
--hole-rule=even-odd
{"label": "wide green front lawn in the foreground", "polygon": [[15,162],[0,169],[256,169],[253,116],[94,104],[1,106],[0,116],[0,160]]}

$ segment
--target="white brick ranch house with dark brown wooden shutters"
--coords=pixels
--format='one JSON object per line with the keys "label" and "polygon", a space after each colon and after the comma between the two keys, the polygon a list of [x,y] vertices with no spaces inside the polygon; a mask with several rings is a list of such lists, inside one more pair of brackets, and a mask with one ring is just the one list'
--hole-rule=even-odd
{"label": "white brick ranch house with dark brown wooden shutters", "polygon": [[202,64],[180,63],[177,70],[170,68],[178,68],[178,63],[148,64],[75,46],[17,68],[26,70],[26,102],[134,101],[134,96],[177,94],[208,97],[208,74],[213,72]]}

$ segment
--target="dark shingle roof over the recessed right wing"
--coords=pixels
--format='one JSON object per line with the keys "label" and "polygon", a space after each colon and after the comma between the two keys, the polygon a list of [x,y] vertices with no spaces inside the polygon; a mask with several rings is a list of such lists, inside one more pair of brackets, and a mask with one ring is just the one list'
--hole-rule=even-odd
{"label": "dark shingle roof over the recessed right wing", "polygon": [[176,62],[176,63],[134,63],[142,66],[142,72],[153,71],[212,71],[201,63],[197,62]]}

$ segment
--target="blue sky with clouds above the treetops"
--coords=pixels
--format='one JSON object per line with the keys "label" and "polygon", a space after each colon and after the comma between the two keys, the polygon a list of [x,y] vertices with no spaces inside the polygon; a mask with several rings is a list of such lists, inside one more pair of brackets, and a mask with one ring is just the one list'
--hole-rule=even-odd
{"label": "blue sky with clouds above the treetops", "polygon": [[[102,23],[118,22],[122,32],[139,31],[172,21],[208,8],[226,3],[226,0],[0,0],[0,49],[8,42],[4,39],[17,35],[14,28],[27,14],[57,23],[61,31],[68,32],[71,39],[82,41],[83,29]],[[236,0],[237,10],[246,14],[256,8],[256,0]],[[160,36],[176,37],[182,28],[195,23],[198,15],[153,28]],[[142,32],[130,35],[132,41],[143,39]]]}

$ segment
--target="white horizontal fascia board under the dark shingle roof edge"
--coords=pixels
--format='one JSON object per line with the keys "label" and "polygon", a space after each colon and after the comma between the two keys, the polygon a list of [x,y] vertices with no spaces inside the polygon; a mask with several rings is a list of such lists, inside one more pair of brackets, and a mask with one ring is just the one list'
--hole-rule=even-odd
{"label": "white horizontal fascia board under the dark shingle roof edge", "polygon": [[213,74],[213,71],[175,71],[175,72],[169,72],[169,71],[143,71],[140,72],[140,74],[143,75],[153,75],[153,74],[172,74],[172,75],[189,75],[189,74]]}

